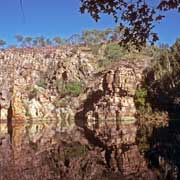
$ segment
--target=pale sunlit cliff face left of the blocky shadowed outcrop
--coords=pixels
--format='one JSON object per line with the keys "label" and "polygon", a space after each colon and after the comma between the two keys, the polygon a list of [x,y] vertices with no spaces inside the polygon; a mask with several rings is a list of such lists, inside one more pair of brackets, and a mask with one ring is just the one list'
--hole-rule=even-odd
{"label": "pale sunlit cliff face left of the blocky shadowed outcrop", "polygon": [[[96,68],[93,58],[71,47],[1,51],[1,121],[7,124],[11,101],[14,124],[47,120],[56,121],[60,130],[70,129],[79,100],[63,88],[71,82],[86,84]],[[8,131],[2,130],[1,134]]]}

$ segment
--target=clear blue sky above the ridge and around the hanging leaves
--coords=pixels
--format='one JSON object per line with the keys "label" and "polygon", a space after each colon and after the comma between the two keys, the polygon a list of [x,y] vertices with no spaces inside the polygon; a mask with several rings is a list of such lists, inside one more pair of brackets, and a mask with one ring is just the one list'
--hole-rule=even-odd
{"label": "clear blue sky above the ridge and around the hanging leaves", "polygon": [[[0,0],[0,38],[14,44],[14,35],[67,37],[85,29],[114,27],[113,18],[101,16],[96,23],[88,14],[79,12],[80,0],[23,0],[25,21],[19,0]],[[160,41],[174,43],[180,37],[180,15],[167,13],[155,31]]]}

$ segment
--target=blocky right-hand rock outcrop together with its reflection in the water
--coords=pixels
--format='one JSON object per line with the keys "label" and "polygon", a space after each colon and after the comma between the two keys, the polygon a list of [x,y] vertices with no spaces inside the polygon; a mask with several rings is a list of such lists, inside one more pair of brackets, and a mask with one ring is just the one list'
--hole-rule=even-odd
{"label": "blocky right-hand rock outcrop together with its reflection in the water", "polygon": [[138,65],[119,64],[104,72],[87,90],[83,108],[76,114],[76,124],[85,129],[90,143],[106,149],[107,164],[115,172],[149,179],[152,174],[135,145],[134,95],[141,82],[141,70]]}

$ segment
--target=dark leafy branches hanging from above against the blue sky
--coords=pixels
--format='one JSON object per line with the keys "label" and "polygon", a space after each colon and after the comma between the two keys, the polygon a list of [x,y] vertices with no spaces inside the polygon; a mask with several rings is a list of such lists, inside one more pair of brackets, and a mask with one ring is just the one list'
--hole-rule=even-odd
{"label": "dark leafy branches hanging from above against the blue sky", "polygon": [[161,0],[152,7],[148,0],[80,0],[81,13],[86,11],[98,21],[102,13],[112,15],[115,22],[119,22],[123,37],[121,45],[135,45],[141,49],[147,42],[154,44],[158,40],[157,33],[153,32],[155,22],[161,21],[164,11],[178,10],[179,0]]}

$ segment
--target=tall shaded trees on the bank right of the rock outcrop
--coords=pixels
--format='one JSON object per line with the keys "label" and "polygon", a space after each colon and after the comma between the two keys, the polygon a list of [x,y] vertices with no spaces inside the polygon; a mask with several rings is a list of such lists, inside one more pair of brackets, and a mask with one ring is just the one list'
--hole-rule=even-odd
{"label": "tall shaded trees on the bank right of the rock outcrop", "polygon": [[151,94],[151,104],[159,110],[173,111],[175,101],[179,99],[180,39],[171,48],[160,49],[145,82]]}

